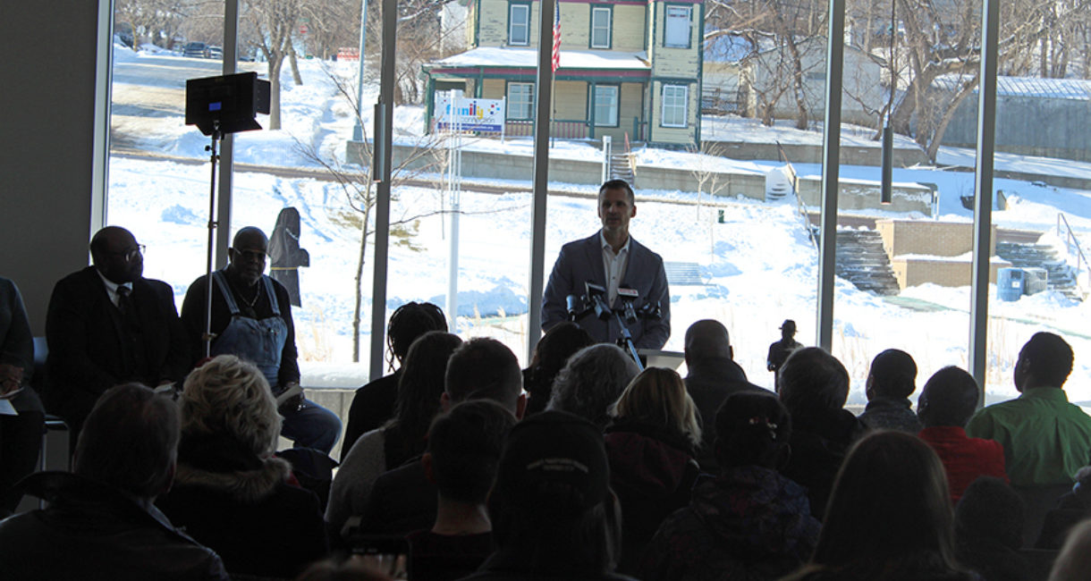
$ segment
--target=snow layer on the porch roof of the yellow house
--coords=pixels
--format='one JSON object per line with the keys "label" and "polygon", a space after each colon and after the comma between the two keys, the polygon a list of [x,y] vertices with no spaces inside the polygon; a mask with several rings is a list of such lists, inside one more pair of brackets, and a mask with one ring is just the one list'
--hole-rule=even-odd
{"label": "snow layer on the porch roof of the yellow house", "polygon": [[[651,63],[644,51],[562,50],[561,69],[648,70]],[[481,47],[432,63],[435,68],[454,66],[538,66],[533,48]]]}

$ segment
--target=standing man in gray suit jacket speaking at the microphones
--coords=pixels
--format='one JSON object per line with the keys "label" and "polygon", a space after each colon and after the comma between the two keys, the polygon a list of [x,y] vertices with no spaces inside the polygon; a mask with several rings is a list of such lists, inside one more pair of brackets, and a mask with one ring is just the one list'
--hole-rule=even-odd
{"label": "standing man in gray suit jacket speaking at the microphones", "polygon": [[[658,302],[660,318],[640,318],[628,325],[628,330],[637,348],[661,349],[671,335],[667,271],[658,254],[628,235],[628,221],[636,216],[633,189],[624,180],[610,180],[599,189],[598,206],[602,230],[561,247],[542,299],[542,330],[567,320],[565,298],[584,294],[584,283],[591,282],[607,289],[607,304],[611,308],[622,306],[618,289],[637,292],[638,299],[633,304],[637,310]],[[599,342],[613,342],[621,334],[613,317],[599,320],[587,314],[576,324]]]}

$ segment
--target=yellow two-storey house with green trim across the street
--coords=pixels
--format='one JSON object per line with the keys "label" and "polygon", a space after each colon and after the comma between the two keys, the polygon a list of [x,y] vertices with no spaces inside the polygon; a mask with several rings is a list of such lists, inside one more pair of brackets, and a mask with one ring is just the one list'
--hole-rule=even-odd
{"label": "yellow two-storey house with green trim across the street", "polygon": [[[533,133],[541,1],[470,1],[471,48],[423,68],[430,126],[435,92],[458,89],[505,98],[505,133]],[[703,0],[561,0],[558,10],[551,135],[700,144]]]}

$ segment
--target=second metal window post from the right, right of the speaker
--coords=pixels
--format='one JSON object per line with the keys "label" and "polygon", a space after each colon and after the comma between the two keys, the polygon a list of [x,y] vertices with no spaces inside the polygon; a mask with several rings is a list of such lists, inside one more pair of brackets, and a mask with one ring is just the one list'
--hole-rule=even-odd
{"label": "second metal window post from the right, right of the speaker", "polygon": [[826,122],[823,126],[822,244],[818,256],[818,347],[834,344],[834,266],[837,259],[837,196],[841,153],[841,78],[844,60],[844,0],[829,0],[826,50]]}

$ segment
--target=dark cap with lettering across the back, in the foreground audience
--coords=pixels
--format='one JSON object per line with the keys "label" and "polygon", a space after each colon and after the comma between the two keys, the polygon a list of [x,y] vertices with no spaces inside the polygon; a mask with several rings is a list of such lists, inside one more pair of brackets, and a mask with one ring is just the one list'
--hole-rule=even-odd
{"label": "dark cap with lettering across the back, in the foreground audience", "polygon": [[516,424],[507,435],[496,483],[515,503],[536,501],[544,483],[564,483],[582,493],[591,508],[610,489],[610,464],[599,428],[567,412],[546,411]]}

